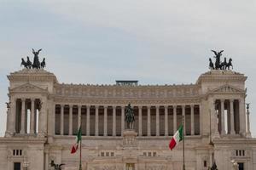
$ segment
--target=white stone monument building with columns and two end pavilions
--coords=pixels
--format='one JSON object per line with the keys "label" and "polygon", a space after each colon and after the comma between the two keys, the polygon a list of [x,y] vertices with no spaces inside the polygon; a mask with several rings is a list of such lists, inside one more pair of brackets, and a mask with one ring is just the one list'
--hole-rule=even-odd
{"label": "white stone monument building with columns and two end pavilions", "polygon": [[[83,170],[179,170],[182,144],[172,151],[168,145],[182,116],[187,170],[214,162],[221,170],[234,162],[256,169],[247,77],[236,71],[207,71],[188,85],[66,84],[43,68],[24,68],[8,79],[0,169],[49,170],[53,161],[78,169],[79,153],[70,151],[81,125]],[[128,104],[134,122],[126,126]]]}

